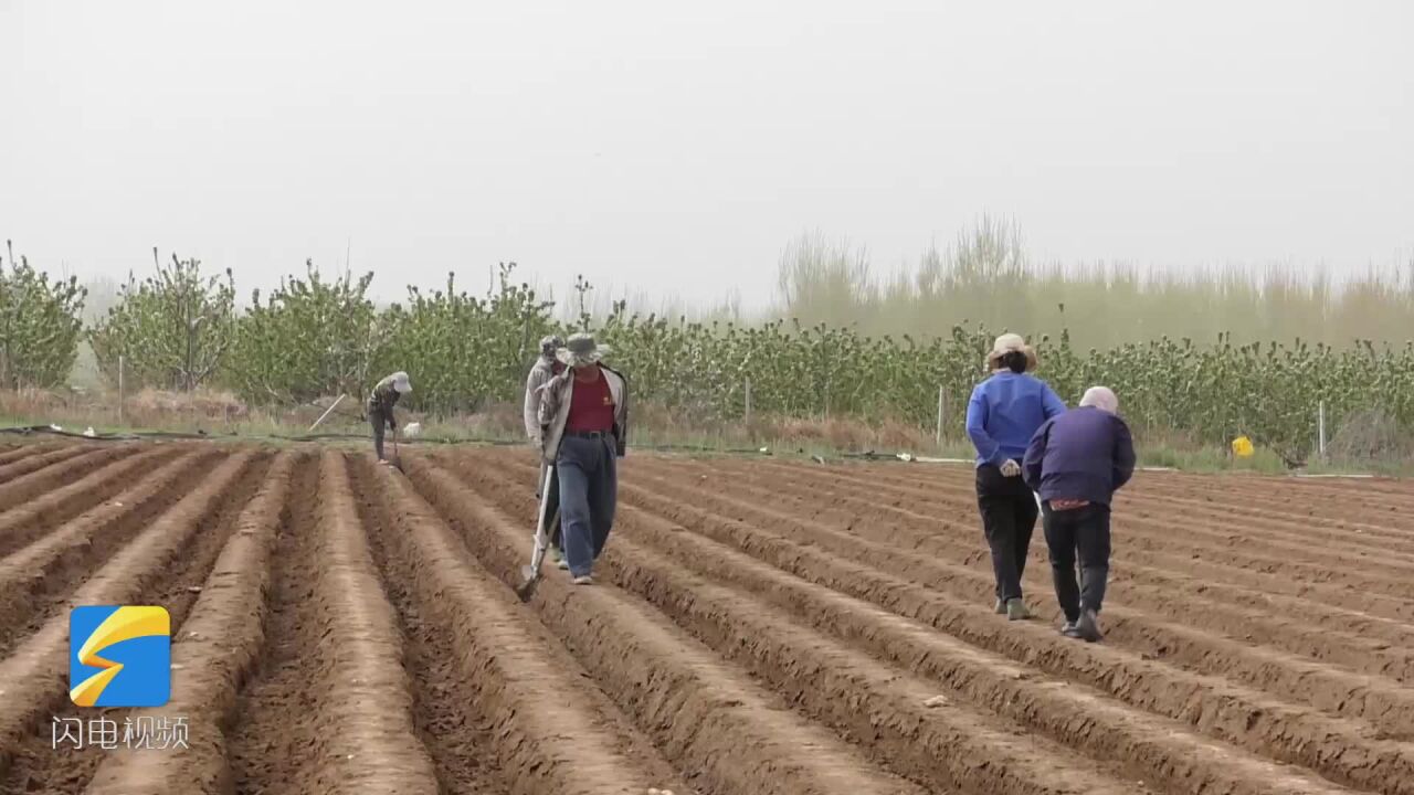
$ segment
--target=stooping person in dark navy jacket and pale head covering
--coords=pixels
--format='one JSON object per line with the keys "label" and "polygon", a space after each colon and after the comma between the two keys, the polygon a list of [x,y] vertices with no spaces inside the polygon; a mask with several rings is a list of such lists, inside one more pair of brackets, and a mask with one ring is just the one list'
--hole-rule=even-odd
{"label": "stooping person in dark navy jacket and pale head covering", "polygon": [[1110,505],[1134,475],[1134,440],[1118,410],[1114,392],[1092,386],[1080,407],[1041,426],[1021,465],[1041,495],[1051,574],[1065,613],[1060,634],[1092,644],[1100,639],[1099,613],[1110,577]]}

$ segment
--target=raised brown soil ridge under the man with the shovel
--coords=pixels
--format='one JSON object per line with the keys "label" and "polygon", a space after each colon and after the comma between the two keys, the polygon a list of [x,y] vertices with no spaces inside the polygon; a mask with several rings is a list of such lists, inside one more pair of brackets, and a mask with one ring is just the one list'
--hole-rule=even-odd
{"label": "raised brown soil ridge under the man with the shovel", "polygon": [[[440,495],[443,513],[472,536],[478,559],[516,584],[525,533],[444,471],[416,472]],[[534,600],[540,615],[704,792],[923,794],[796,719],[779,697],[641,603],[614,588],[573,588],[563,576],[543,580]]]}

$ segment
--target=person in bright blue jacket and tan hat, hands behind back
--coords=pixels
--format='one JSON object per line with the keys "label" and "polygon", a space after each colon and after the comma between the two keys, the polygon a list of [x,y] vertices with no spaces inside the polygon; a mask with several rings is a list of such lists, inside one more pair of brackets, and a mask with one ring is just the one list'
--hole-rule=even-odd
{"label": "person in bright blue jacket and tan hat, hands behind back", "polygon": [[1036,430],[1065,413],[1065,403],[1041,379],[1027,373],[1036,355],[1017,334],[1003,334],[987,354],[991,375],[967,402],[967,436],[977,448],[977,509],[991,549],[998,614],[1029,618],[1022,601],[1031,536],[1036,529],[1036,497],[1021,480],[1019,461]]}

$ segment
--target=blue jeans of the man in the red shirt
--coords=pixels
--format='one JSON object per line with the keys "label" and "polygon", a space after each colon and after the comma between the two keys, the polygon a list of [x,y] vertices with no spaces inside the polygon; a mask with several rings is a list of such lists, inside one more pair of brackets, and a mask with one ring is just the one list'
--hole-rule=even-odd
{"label": "blue jeans of the man in the red shirt", "polygon": [[590,574],[614,528],[618,460],[614,437],[566,434],[554,463],[560,481],[560,543],[570,574]]}

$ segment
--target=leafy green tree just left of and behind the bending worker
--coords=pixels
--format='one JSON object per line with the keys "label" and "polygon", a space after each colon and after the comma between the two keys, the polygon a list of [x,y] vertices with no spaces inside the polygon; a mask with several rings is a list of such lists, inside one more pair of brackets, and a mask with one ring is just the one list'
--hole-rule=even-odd
{"label": "leafy green tree just left of and behind the bending worker", "polygon": [[305,277],[281,277],[263,303],[252,291],[228,368],[236,390],[252,402],[365,393],[390,325],[368,297],[372,280],[344,273],[329,282],[305,260]]}

